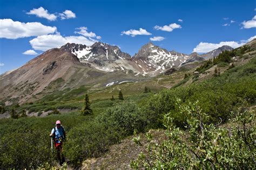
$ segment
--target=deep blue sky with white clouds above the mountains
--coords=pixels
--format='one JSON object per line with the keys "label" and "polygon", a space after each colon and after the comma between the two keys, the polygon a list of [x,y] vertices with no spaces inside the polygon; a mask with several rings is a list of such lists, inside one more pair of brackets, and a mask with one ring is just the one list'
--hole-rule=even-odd
{"label": "deep blue sky with white clouds above the mountains", "polygon": [[0,74],[67,42],[134,55],[147,42],[185,54],[256,38],[255,0],[1,0]]}

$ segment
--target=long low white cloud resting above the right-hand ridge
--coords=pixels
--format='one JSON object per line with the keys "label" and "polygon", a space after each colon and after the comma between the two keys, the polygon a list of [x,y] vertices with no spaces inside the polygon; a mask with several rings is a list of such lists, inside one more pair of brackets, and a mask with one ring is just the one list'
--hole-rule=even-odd
{"label": "long low white cloud resting above the right-hand ridge", "polygon": [[240,47],[240,46],[246,44],[246,42],[253,40],[254,38],[256,38],[256,36],[253,36],[253,37],[249,38],[248,40],[241,40],[240,42],[222,41],[222,42],[219,42],[218,44],[213,44],[213,43],[208,43],[208,42],[200,42],[196,46],[196,48],[194,48],[193,52],[207,53],[207,52],[212,51],[213,49],[219,48],[224,45],[231,46],[232,48],[237,48],[237,47]]}

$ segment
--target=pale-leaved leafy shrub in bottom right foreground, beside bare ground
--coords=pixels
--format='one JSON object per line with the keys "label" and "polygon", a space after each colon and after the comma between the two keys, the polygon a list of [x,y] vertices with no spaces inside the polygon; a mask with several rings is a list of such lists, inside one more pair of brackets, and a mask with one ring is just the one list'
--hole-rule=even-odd
{"label": "pale-leaved leafy shrub in bottom right foreground, beside bare ground", "polygon": [[[180,103],[180,101],[178,102]],[[208,115],[196,104],[179,106],[188,115],[186,132],[173,124],[171,114],[164,117],[165,140],[149,141],[146,154],[131,161],[134,169],[254,169],[256,156],[255,113],[234,115],[234,127],[217,128],[208,124]],[[142,145],[140,137],[133,138]]]}

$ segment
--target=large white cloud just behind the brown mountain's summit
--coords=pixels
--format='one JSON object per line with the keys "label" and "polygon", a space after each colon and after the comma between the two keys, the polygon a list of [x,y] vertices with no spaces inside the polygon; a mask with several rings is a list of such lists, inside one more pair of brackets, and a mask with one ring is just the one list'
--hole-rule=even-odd
{"label": "large white cloud just behind the brown mountain's summit", "polygon": [[60,34],[50,34],[50,35],[44,35],[39,36],[37,38],[34,38],[29,41],[33,49],[46,51],[51,48],[60,47],[62,45],[65,45],[66,43],[76,43],[76,44],[85,44],[87,46],[91,46],[97,40],[83,36],[69,36],[69,37],[63,37]]}

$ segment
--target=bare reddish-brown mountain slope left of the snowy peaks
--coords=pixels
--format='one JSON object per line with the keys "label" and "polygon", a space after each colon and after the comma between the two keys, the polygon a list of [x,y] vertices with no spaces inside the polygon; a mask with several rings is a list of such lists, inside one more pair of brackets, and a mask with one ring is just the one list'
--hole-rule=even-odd
{"label": "bare reddish-brown mountain slope left of the snowy peaks", "polygon": [[0,75],[0,100],[9,101],[6,105],[24,103],[67,88],[97,88],[112,82],[144,79],[124,72],[109,73],[95,69],[90,63],[80,62],[76,55],[69,52],[71,45],[50,49],[13,72]]}

